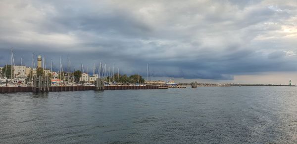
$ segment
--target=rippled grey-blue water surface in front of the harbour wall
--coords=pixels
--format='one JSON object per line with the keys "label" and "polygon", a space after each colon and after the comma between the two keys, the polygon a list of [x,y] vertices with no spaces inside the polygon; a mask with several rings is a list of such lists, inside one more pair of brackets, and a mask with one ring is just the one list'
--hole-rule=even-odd
{"label": "rippled grey-blue water surface in front of the harbour wall", "polygon": [[0,143],[297,143],[297,87],[0,94]]}

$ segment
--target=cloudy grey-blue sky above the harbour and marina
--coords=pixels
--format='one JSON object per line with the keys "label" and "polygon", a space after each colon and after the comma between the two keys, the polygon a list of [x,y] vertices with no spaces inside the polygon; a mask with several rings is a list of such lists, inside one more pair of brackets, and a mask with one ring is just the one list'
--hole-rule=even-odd
{"label": "cloudy grey-blue sky above the harbour and marina", "polygon": [[297,0],[0,0],[0,66],[106,63],[178,82],[297,81]]}

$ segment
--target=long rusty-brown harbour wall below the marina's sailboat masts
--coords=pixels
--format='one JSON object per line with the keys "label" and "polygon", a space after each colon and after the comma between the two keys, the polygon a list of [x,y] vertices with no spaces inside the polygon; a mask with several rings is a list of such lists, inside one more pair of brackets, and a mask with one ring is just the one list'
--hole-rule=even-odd
{"label": "long rusty-brown harbour wall below the marina's sailboat masts", "polygon": [[[168,89],[167,86],[160,85],[145,85],[145,86],[104,86],[104,90],[138,90],[138,89]],[[60,91],[85,91],[96,90],[93,86],[50,86],[49,92]],[[0,87],[0,93],[15,93],[15,92],[33,92],[33,87]]]}

